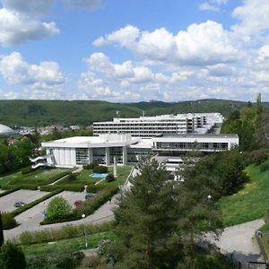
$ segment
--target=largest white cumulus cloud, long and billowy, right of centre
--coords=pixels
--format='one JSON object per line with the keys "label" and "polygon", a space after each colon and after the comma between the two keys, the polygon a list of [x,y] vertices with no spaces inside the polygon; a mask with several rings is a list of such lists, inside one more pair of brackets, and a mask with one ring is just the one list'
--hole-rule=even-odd
{"label": "largest white cumulus cloud, long and billowy, right of centre", "polygon": [[236,61],[239,56],[230,32],[212,21],[191,24],[177,35],[164,28],[149,32],[128,25],[96,39],[93,44],[117,44],[146,60],[173,65],[215,65]]}

